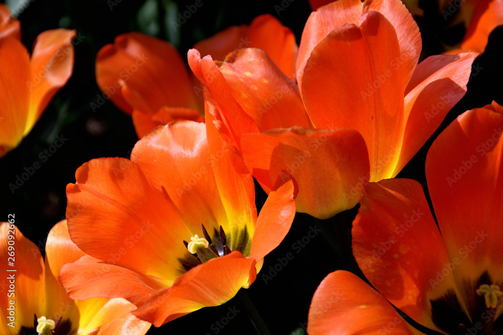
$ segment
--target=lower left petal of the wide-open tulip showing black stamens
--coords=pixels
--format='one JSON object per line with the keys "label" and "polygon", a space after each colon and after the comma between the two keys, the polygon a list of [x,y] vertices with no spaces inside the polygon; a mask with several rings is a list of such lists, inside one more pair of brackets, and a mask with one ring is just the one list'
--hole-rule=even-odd
{"label": "lower left petal of the wide-open tulip showing black stamens", "polygon": [[138,305],[148,300],[157,290],[171,284],[114,265],[113,261],[115,260],[112,258],[111,264],[107,264],[86,255],[73,263],[65,264],[59,273],[61,285],[74,300],[124,298]]}

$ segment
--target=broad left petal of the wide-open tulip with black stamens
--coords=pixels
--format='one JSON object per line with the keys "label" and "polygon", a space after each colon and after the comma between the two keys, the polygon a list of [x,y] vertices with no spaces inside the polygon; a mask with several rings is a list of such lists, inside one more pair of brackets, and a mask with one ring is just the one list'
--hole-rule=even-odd
{"label": "broad left petal of the wide-open tulip with black stamens", "polygon": [[183,241],[193,234],[137,164],[95,159],[79,167],[75,179],[66,187],[66,218],[71,240],[82,251],[166,280],[185,272]]}

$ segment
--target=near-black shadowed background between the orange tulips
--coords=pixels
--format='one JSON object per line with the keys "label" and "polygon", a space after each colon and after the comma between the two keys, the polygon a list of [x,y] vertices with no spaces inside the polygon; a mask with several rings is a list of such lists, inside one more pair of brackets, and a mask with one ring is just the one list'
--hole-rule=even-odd
{"label": "near-black shadowed background between the orange tulips", "polygon": [[[292,0],[290,0],[292,1]],[[16,222],[25,236],[44,251],[45,239],[51,227],[64,218],[65,186],[75,181],[74,172],[83,163],[98,157],[129,157],[137,141],[131,118],[106,101],[93,111],[92,102],[101,96],[95,80],[95,58],[98,50],[112,43],[115,36],[141,31],[172,42],[186,59],[192,45],[231,26],[249,24],[256,16],[270,13],[291,28],[300,42],[303,26],[311,10],[306,0],[278,0],[272,2],[230,2],[202,0],[203,6],[182,25],[178,32],[170,29],[170,22],[178,13],[187,10],[194,1],[26,1],[20,12],[22,41],[31,51],[36,36],[58,27],[75,29],[80,42],[75,45],[75,66],[68,83],[56,94],[31,133],[20,146],[0,159],[0,221],[8,213],[16,215]],[[15,2],[12,2],[13,4]],[[11,3],[8,2],[10,5]],[[288,4],[288,7],[282,5]],[[461,26],[447,27],[434,2],[424,2],[426,14],[417,22],[423,35],[424,56],[438,54],[443,46],[455,44],[464,34]],[[276,6],[276,7],[275,7]],[[281,8],[282,11],[277,10]],[[467,109],[480,107],[493,99],[503,103],[503,27],[491,34],[486,52],[474,64],[480,72],[473,73],[465,97],[450,111],[446,120],[423,149],[409,162],[398,177],[412,178],[426,190],[424,162],[432,141],[440,131]],[[5,66],[0,64],[0,66]],[[1,108],[1,106],[0,106]],[[67,140],[57,151],[42,161],[39,154],[62,136]],[[39,162],[41,167],[19,189],[11,191],[17,176],[25,168]],[[257,205],[262,206],[265,194],[257,188]],[[357,208],[332,219],[320,221],[306,214],[297,214],[292,230],[283,244],[266,257],[257,281],[245,290],[261,313],[272,333],[304,334],[311,297],[320,281],[331,271],[358,271],[351,255],[351,221]],[[306,241],[314,226],[322,229],[300,250],[298,240]],[[295,245],[294,245],[295,243]],[[298,251],[298,252],[297,252]],[[278,258],[287,253],[293,259],[281,267]],[[281,268],[272,279],[270,266]],[[228,308],[240,310],[223,327]],[[203,308],[176,319],[149,334],[234,334],[256,333],[246,313],[236,299],[218,307]]]}

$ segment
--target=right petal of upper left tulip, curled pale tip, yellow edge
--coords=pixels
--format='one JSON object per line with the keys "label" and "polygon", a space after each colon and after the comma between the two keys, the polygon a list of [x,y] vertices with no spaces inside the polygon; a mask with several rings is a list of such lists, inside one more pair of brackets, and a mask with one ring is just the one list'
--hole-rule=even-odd
{"label": "right petal of upper left tulip, curled pale tip, yellow edge", "polygon": [[38,35],[30,61],[30,78],[25,83],[30,90],[30,110],[26,136],[54,94],[66,84],[73,71],[74,30],[54,29]]}

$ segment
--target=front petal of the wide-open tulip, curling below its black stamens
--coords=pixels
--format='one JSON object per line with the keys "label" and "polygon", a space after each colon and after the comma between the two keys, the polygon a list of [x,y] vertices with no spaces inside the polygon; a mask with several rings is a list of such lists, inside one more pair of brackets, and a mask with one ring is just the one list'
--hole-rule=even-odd
{"label": "front petal of the wide-open tulip, curling below its black stamens", "polygon": [[209,260],[178,277],[173,286],[157,291],[133,314],[158,327],[200,308],[221,305],[255,281],[255,263],[237,251]]}

